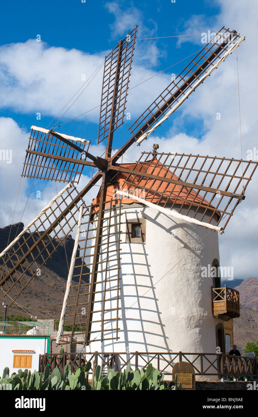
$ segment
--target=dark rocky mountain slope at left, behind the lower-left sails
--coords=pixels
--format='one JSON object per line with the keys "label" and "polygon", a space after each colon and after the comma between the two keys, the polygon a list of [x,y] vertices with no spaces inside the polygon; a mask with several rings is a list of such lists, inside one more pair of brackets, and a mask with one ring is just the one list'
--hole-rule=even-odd
{"label": "dark rocky mountain slope at left, behind the lower-left sails", "polygon": [[[23,227],[23,223],[17,223],[12,227],[9,225],[0,229],[0,252],[7,246],[9,234],[9,242],[11,242],[15,239],[15,236],[23,230]],[[32,244],[33,236],[30,236],[28,233],[26,233],[25,236],[28,238],[28,244]],[[44,240],[44,242],[47,243],[46,240]],[[54,239],[53,245],[57,246],[58,243],[59,240]],[[37,316],[38,319],[59,319],[73,246],[74,239],[71,235],[68,235],[60,246],[57,247],[52,257],[48,259],[44,266],[41,267],[41,275],[35,276],[25,287],[22,294],[16,299],[16,302],[20,306],[33,314],[33,316]],[[19,251],[18,256],[21,256],[21,252]],[[79,256],[79,251],[77,252],[77,256]],[[3,260],[0,259],[0,264],[2,262]],[[80,260],[77,259],[75,261],[75,266],[79,264]],[[83,268],[84,273],[89,271],[87,266],[84,266]],[[75,279],[75,281],[78,281],[78,279]],[[82,281],[83,283],[88,282],[83,278]],[[0,291],[0,306],[3,301],[6,301],[6,299],[3,297],[2,291]],[[0,315],[2,316],[3,310],[1,313],[2,314]],[[14,316],[28,315],[15,303],[8,308],[7,315],[8,314],[13,314]]]}

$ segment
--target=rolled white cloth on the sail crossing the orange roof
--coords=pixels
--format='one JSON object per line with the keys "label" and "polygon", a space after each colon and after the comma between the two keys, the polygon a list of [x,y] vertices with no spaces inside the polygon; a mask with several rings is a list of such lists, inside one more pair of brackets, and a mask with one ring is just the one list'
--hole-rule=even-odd
{"label": "rolled white cloth on the sail crossing the orange roof", "polygon": [[156,204],[150,203],[150,201],[143,200],[143,198],[139,198],[133,194],[126,193],[125,191],[116,190],[116,193],[120,194],[121,196],[126,196],[129,198],[132,198],[133,200],[139,201],[139,203],[143,203],[145,204],[145,206],[148,206],[150,208],[153,208],[154,210],[160,211],[163,214],[167,214],[168,216],[175,217],[176,219],[185,220],[185,221],[188,221],[188,223],[194,223],[194,224],[198,224],[199,226],[207,227],[208,229],[217,230],[218,232],[220,232],[220,234],[224,232],[223,227],[213,226],[212,224],[205,223],[204,221],[199,221],[199,220],[193,219],[192,217],[184,216],[183,214],[180,214],[175,210],[168,210],[168,208],[157,206]]}

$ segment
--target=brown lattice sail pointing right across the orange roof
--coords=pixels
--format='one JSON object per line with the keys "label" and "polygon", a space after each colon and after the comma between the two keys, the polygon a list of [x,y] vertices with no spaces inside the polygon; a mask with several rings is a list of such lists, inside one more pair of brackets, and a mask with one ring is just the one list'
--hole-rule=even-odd
{"label": "brown lattice sail pointing right across the orange roof", "polygon": [[135,164],[111,168],[119,171],[122,191],[144,190],[150,203],[198,221],[208,215],[209,224],[224,230],[245,198],[257,165],[256,161],[216,156],[143,152]]}

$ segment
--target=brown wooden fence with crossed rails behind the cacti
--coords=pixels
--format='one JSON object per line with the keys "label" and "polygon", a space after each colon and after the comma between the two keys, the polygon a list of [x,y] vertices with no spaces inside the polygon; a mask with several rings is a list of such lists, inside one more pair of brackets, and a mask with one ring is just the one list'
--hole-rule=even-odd
{"label": "brown wooden fence with crossed rails behind the cacti", "polygon": [[[93,364],[95,360],[97,365],[103,365],[103,374],[107,373],[108,369],[112,368],[115,371],[123,372],[129,364],[130,369],[134,370],[136,367],[146,367],[149,363],[153,367],[159,369],[160,373],[165,375],[172,375],[172,369],[176,362],[189,362],[193,365],[195,375],[200,376],[217,376],[218,379],[233,376],[234,378],[244,377],[245,379],[258,377],[258,358],[248,358],[232,356],[227,354],[215,353],[55,353],[40,355],[39,372],[43,372],[46,365],[49,365],[50,372],[55,367],[64,371],[66,364],[70,364],[72,371],[79,366],[84,366],[86,362]],[[92,372],[92,368],[90,372]]]}

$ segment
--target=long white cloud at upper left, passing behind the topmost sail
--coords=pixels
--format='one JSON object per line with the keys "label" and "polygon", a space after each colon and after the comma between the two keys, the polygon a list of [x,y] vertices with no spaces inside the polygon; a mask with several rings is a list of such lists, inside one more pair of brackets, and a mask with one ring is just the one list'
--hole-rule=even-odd
{"label": "long white cloud at upper left, passing behind the topmost sail", "polygon": [[[55,117],[85,82],[82,81],[82,74],[85,74],[87,80],[103,62],[105,53],[88,54],[75,49],[48,47],[47,44],[36,40],[4,45],[0,48],[0,95],[2,97],[0,107],[12,108],[20,113],[35,113],[35,121],[38,112],[41,116]],[[140,62],[134,62],[130,87],[152,77],[155,73]],[[68,110],[65,118],[76,117],[100,104],[102,77],[103,68]],[[140,110],[147,107],[167,84],[168,77],[161,74],[155,78],[153,88],[149,88],[150,83],[147,82],[137,90],[133,89],[129,96],[129,100],[135,103],[128,110],[131,116],[136,117]],[[130,106],[130,101],[128,101],[128,106]],[[93,121],[97,124],[99,111],[100,109],[96,108],[78,120]],[[65,121],[65,118],[62,121]],[[37,122],[37,124],[40,123]]]}

